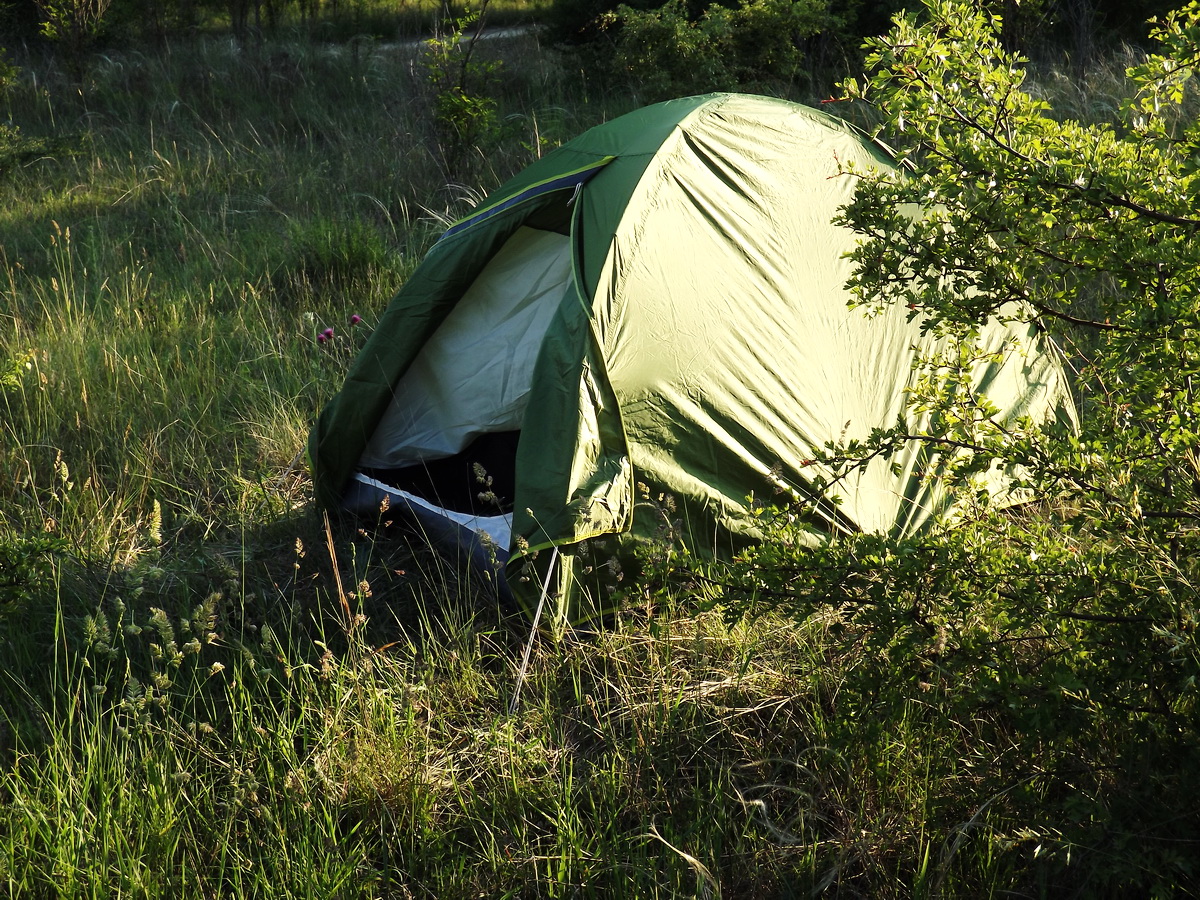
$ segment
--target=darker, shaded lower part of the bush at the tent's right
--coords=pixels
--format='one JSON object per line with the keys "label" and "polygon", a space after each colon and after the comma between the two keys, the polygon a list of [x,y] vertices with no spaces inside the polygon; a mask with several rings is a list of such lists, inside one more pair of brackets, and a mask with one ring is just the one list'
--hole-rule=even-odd
{"label": "darker, shaded lower part of the bush at the tent's right", "polygon": [[928,762],[931,821],[985,811],[977,838],[1022,880],[1066,889],[1087,870],[1102,895],[1169,895],[1193,883],[1200,846],[1200,644],[1195,604],[1156,568],[1170,565],[1152,546],[1074,515],[816,548],[781,516],[718,581],[731,618],[782,607],[830,623],[830,652],[854,660],[832,752],[878,752],[918,710],[944,745]]}

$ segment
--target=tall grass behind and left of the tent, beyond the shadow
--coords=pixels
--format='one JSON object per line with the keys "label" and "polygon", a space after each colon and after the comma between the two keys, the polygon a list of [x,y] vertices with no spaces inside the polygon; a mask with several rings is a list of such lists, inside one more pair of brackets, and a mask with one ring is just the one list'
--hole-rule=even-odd
{"label": "tall grass behind and left of the tent, beyond the shadow", "polygon": [[[511,79],[515,152],[458,160],[469,181],[446,187],[412,53],[206,42],[102,59],[82,91],[26,73],[14,119],[62,150],[4,186],[0,350],[35,362],[7,400],[7,467],[44,485],[61,456],[80,485],[204,528],[262,502],[337,386],[346,354],[314,336],[382,310],[558,118]],[[17,488],[6,506],[28,509]]]}

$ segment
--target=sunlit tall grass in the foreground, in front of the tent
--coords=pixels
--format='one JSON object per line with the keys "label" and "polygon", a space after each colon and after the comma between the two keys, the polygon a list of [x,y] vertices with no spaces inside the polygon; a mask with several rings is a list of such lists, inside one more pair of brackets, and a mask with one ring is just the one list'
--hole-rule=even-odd
{"label": "sunlit tall grass in the foreground, in front of the tent", "polygon": [[[317,593],[332,613],[336,589]],[[329,634],[264,624],[186,656],[149,696],[130,686],[131,666],[152,668],[132,629],[47,664],[62,706],[18,720],[40,733],[18,736],[4,774],[10,890],[641,898],[871,884],[899,896],[930,895],[935,876],[978,883],[923,822],[928,760],[914,757],[946,751],[935,736],[902,724],[864,740],[862,758],[823,743],[847,662],[822,655],[824,624],[730,629],[668,610],[650,634],[632,613],[540,646],[510,716],[511,630],[426,600],[438,612],[394,623],[386,649],[353,618],[328,616]],[[168,624],[146,625],[146,644]]]}

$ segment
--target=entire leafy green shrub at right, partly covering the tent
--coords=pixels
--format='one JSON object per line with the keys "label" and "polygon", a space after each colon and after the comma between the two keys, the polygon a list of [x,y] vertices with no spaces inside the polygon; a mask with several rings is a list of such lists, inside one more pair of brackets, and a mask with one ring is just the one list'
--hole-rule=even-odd
{"label": "entire leafy green shrub at right, partly covering the tent", "polygon": [[[830,444],[817,487],[904,442],[941,456],[973,512],[917,538],[818,539],[803,509],[718,577],[732,614],[830,617],[862,652],[841,691],[856,731],[905,709],[991,748],[974,809],[990,830],[1088,895],[1189,893],[1200,848],[1200,4],[1159,22],[1114,121],[1056,114],[1025,89],[998,18],[928,0],[868,44],[845,85],[904,174],[857,173],[841,222],[863,241],[865,312],[902,304],[960,353],[920,364],[905,421]],[[1076,373],[1078,432],[997,425],[956,379],[988,317],[1037,323]],[[913,416],[917,419],[918,416]],[[1036,506],[989,508],[1001,467]],[[821,468],[821,467],[817,467]],[[816,548],[814,548],[816,544]],[[707,576],[706,576],[707,577]],[[974,766],[948,761],[948,766]],[[956,808],[954,804],[958,804]],[[1049,860],[1049,862],[1048,862]],[[1045,884],[1043,884],[1043,888]]]}

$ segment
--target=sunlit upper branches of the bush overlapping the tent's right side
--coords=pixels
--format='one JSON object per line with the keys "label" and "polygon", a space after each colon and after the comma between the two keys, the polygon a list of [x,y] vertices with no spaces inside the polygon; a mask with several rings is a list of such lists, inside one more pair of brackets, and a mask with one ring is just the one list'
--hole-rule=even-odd
{"label": "sunlit upper branches of the bush overlapping the tent's right side", "polygon": [[[1102,534],[1134,523],[1190,578],[1200,122],[1188,77],[1200,4],[1160,28],[1165,55],[1129,71],[1136,92],[1121,120],[1097,125],[1056,118],[1022,90],[1022,60],[1001,49],[997,20],[941,1],[930,16],[872,42],[877,73],[847,84],[916,173],[863,179],[844,216],[864,238],[852,286],[864,306],[904,304],[967,347],[989,316],[1057,334],[1085,415],[1072,438],[1006,431],[980,416],[980,398],[938,392],[934,379],[914,402],[943,409],[941,430],[916,437],[958,442],[1043,496],[1072,497]],[[911,437],[904,424],[876,444],[898,437]]]}

